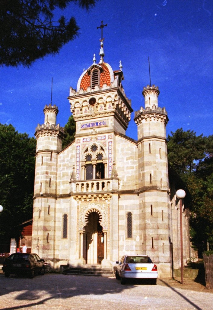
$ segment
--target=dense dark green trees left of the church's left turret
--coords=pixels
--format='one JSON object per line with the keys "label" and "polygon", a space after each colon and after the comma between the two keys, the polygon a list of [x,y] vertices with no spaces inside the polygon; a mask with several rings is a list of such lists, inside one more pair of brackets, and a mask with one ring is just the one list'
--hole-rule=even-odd
{"label": "dense dark green trees left of the church's left turret", "polygon": [[20,224],[32,218],[35,152],[34,138],[0,124],[0,241],[19,238]]}

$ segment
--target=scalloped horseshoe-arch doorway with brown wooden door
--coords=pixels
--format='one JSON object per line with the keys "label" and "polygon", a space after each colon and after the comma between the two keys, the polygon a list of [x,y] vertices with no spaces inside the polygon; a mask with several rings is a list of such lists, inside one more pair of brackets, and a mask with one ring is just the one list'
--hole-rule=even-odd
{"label": "scalloped horseshoe-arch doorway with brown wooden door", "polygon": [[84,259],[87,264],[101,264],[104,258],[104,234],[100,225],[101,214],[90,210],[85,216],[87,225],[84,226],[83,240]]}

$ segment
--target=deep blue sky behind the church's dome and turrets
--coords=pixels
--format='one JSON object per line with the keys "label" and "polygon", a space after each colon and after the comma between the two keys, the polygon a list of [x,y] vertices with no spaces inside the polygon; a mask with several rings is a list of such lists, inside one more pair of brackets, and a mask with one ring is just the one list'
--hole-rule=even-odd
{"label": "deep blue sky behind the church's dome and turrets", "polygon": [[[58,14],[58,11],[56,12]],[[213,2],[212,0],[102,0],[87,13],[74,4],[62,12],[75,16],[80,35],[58,55],[37,60],[30,68],[0,68],[0,123],[34,136],[44,122],[43,108],[59,109],[57,123],[70,116],[69,88],[93,62],[99,62],[101,20],[104,61],[113,70],[123,65],[123,87],[134,111],[144,106],[143,87],[159,86],[159,106],[165,107],[167,135],[178,128],[197,135],[213,134]],[[137,139],[134,112],[126,135]]]}

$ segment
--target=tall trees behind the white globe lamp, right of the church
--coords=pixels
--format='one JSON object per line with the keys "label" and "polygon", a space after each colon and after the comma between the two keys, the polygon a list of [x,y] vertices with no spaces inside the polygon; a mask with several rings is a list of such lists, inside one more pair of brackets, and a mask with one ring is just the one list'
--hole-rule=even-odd
{"label": "tall trees behind the white globe lamp, right of the church", "polygon": [[168,135],[168,161],[192,197],[190,237],[199,255],[213,249],[213,136],[178,129]]}

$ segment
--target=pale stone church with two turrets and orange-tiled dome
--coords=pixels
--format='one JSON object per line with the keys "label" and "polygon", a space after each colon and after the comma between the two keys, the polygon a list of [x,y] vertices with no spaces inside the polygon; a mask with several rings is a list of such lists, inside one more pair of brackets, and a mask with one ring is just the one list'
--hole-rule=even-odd
{"label": "pale stone church with two turrets and orange-tiled dome", "polygon": [[[63,150],[58,108],[45,106],[35,134],[32,251],[55,269],[104,268],[126,253],[147,254],[160,277],[170,277],[172,265],[180,266],[180,210],[168,175],[167,112],[158,107],[158,87],[145,87],[145,107],[134,117],[138,140],[127,137],[133,110],[122,80],[121,63],[113,71],[103,55],[99,64],[94,57],[77,90],[70,87],[76,134]],[[185,213],[184,262],[190,258]]]}

